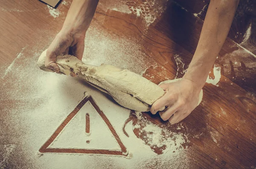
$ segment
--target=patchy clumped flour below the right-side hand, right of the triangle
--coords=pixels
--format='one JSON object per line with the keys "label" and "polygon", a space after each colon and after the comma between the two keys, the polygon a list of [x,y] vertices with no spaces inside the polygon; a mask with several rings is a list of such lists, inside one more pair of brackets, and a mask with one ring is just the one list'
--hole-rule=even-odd
{"label": "patchy clumped flour below the right-side hand, right of the triangle", "polygon": [[133,123],[133,130],[136,130],[135,132],[139,133],[138,137],[157,154],[173,156],[182,154],[187,148],[189,140],[186,134],[181,132],[184,129],[181,124],[177,126],[177,132],[172,132],[166,128],[166,125],[153,124],[140,112],[135,112],[135,116],[138,121]]}

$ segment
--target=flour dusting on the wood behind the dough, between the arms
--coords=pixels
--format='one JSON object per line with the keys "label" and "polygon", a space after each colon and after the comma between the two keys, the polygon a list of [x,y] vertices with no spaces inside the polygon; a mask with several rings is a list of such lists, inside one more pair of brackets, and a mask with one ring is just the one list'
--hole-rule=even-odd
{"label": "flour dusting on the wood behind the dough, between the arms", "polygon": [[83,62],[95,66],[109,64],[137,74],[155,63],[146,59],[136,40],[110,35],[94,26],[90,26],[86,33]]}

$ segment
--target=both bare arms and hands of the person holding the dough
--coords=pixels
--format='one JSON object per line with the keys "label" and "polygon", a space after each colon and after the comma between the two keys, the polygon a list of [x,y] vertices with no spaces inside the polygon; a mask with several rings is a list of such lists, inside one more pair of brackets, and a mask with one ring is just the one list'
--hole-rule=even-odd
{"label": "both bare arms and hands of the person holding the dough", "polygon": [[[73,0],[61,31],[47,50],[45,66],[59,73],[55,63],[59,54],[72,54],[79,58],[84,53],[84,38],[98,5],[98,0]],[[187,117],[197,106],[199,93],[221,47],[226,40],[239,0],[211,0],[198,46],[189,68],[181,80],[163,84],[166,92],[151,106],[156,114],[166,106],[160,117],[175,124]],[[75,74],[70,74],[75,76]]]}

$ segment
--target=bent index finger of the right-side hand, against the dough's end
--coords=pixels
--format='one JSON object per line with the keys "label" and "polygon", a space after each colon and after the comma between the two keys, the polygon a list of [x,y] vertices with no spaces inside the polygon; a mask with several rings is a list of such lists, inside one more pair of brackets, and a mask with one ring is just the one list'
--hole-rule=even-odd
{"label": "bent index finger of the right-side hand, against the dough's end", "polygon": [[168,94],[163,95],[160,99],[155,101],[153,105],[151,106],[150,112],[154,115],[156,114],[162,107],[168,106],[172,104],[173,99],[170,98]]}

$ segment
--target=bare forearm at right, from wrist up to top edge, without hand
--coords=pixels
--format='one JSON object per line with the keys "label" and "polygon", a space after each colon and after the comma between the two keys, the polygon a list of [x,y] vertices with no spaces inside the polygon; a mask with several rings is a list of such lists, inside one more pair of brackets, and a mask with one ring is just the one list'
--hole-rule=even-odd
{"label": "bare forearm at right, from wrist up to top edge, without hand", "polygon": [[229,32],[239,0],[211,0],[194,57],[184,78],[203,87]]}

